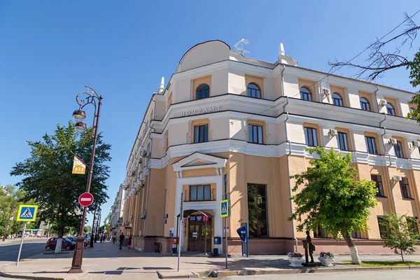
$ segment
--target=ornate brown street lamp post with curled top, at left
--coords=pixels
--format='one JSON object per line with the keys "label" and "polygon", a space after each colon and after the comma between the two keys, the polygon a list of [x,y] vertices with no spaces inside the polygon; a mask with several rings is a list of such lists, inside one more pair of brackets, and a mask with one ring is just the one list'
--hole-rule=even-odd
{"label": "ornate brown street lamp post with curled top, at left", "polygon": [[[76,120],[76,130],[78,132],[84,132],[87,130],[87,126],[83,123],[83,120],[86,118],[86,113],[83,111],[83,107],[87,104],[93,104],[94,106],[94,116],[93,116],[93,125],[92,125],[92,139],[93,139],[93,148],[92,148],[92,158],[90,158],[90,167],[89,167],[89,176],[87,177],[87,188],[86,193],[90,193],[90,184],[92,183],[93,175],[93,164],[94,164],[94,152],[97,144],[98,137],[98,128],[99,128],[99,116],[101,113],[102,105],[102,95],[97,94],[92,87],[86,86],[86,92],[80,92],[76,96],[76,102],[79,104],[79,109],[73,112],[73,118]],[[83,245],[85,237],[83,237],[83,232],[85,231],[85,220],[86,220],[86,211],[87,207],[83,207],[83,218],[80,225],[80,232],[76,239],[77,244],[73,254],[73,262],[71,262],[71,269],[69,273],[81,273],[82,270],[82,261],[83,261]],[[92,229],[93,230],[93,229]]]}

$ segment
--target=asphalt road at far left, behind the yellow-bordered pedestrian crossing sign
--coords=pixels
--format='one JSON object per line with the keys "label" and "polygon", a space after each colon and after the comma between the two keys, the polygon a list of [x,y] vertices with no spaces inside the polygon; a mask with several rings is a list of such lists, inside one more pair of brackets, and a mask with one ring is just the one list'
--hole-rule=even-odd
{"label": "asphalt road at far left, behind the yellow-bordered pedestrian crossing sign", "polygon": [[[47,240],[46,238],[26,238],[23,241],[20,259],[29,258],[38,253],[45,253],[45,242]],[[0,265],[6,265],[18,260],[19,246],[20,239],[6,242],[0,241]]]}

